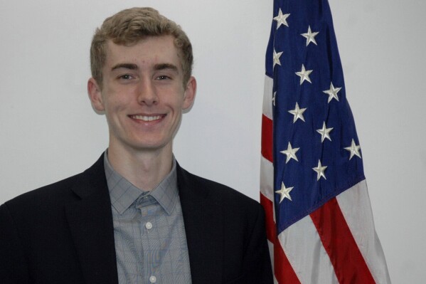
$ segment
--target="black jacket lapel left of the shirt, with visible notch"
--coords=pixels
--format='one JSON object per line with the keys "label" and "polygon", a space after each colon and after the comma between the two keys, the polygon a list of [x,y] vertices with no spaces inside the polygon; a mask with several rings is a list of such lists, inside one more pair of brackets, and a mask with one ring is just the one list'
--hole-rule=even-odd
{"label": "black jacket lapel left of the shirt, with visible notch", "polygon": [[86,283],[118,283],[114,227],[103,154],[80,175],[73,191],[80,200],[65,214]]}

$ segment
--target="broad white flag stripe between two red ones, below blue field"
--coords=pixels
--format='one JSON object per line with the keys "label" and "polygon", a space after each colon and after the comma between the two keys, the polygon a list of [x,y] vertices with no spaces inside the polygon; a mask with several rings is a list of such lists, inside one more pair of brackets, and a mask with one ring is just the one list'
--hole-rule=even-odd
{"label": "broad white flag stripe between two red ones, below blue field", "polygon": [[309,215],[285,229],[278,239],[302,284],[339,284],[329,255]]}

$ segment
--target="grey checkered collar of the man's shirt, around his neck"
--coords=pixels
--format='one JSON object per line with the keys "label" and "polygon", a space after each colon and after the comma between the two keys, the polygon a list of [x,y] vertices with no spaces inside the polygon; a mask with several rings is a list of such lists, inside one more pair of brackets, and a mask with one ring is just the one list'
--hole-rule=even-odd
{"label": "grey checkered collar of the man's shirt, around his neck", "polygon": [[108,161],[107,151],[104,154],[104,168],[111,204],[119,214],[126,211],[142,195],[154,197],[167,214],[170,215],[173,212],[176,201],[179,198],[175,157],[173,157],[173,164],[169,174],[151,191],[138,189],[118,172],[115,172],[115,169],[112,168]]}

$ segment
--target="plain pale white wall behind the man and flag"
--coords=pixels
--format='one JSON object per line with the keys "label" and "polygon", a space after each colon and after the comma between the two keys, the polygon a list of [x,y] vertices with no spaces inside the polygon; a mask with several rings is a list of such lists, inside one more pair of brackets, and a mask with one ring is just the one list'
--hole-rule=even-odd
{"label": "plain pale white wall behind the man and flag", "polygon": [[[194,174],[259,199],[260,121],[271,1],[0,3],[0,204],[82,172],[107,147],[86,95],[92,33],[153,6],[194,46],[196,103],[174,144]],[[426,278],[426,1],[330,0],[376,230],[393,283]]]}

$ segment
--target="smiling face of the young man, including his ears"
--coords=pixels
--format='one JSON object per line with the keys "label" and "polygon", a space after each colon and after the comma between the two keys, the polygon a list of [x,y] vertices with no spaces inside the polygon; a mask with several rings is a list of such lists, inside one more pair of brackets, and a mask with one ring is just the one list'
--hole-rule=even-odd
{"label": "smiling face of the young man, including his ears", "polygon": [[107,42],[102,91],[87,85],[95,110],[105,111],[110,147],[156,150],[169,147],[182,110],[191,107],[196,80],[183,85],[172,36],[149,36],[132,46]]}

